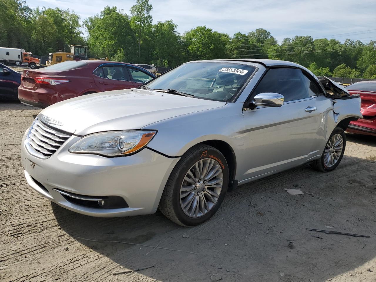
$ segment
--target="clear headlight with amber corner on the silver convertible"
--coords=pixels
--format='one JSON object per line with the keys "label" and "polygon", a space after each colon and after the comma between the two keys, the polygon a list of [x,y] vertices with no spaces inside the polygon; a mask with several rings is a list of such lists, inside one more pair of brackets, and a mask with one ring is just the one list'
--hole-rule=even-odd
{"label": "clear headlight with amber corner on the silver convertible", "polygon": [[143,149],[154,137],[153,130],[108,131],[86,135],[70,147],[71,153],[124,156]]}

